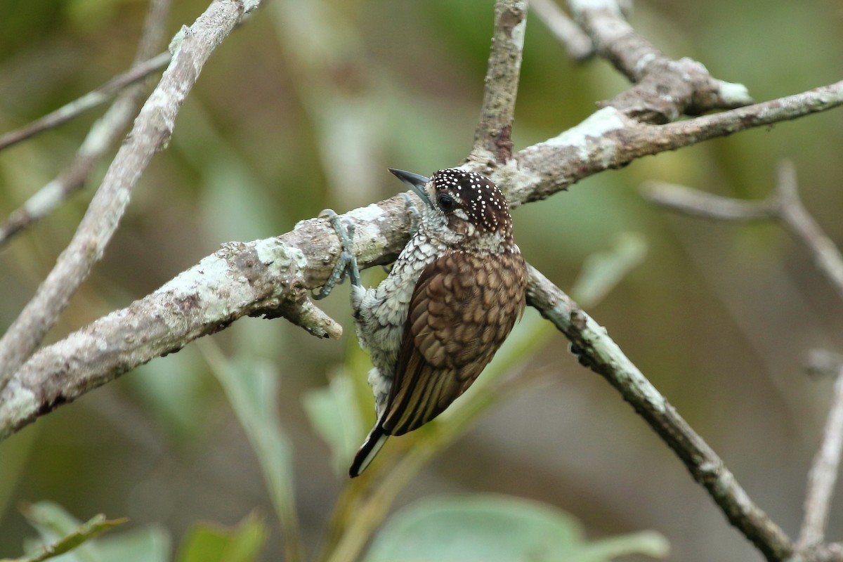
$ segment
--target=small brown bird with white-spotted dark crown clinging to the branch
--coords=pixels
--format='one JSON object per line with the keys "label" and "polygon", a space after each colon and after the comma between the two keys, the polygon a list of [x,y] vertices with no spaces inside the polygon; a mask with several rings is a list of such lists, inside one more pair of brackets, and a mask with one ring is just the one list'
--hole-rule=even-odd
{"label": "small brown bird with white-spotted dark crown clinging to the branch", "polygon": [[345,248],[338,268],[352,279],[357,338],[372,355],[368,382],[378,416],[352,478],[389,436],[426,424],[464,393],[524,311],[527,269],[497,185],[463,169],[442,169],[430,179],[389,171],[425,205],[416,233],[379,286],[360,284],[353,231],[334,222]]}

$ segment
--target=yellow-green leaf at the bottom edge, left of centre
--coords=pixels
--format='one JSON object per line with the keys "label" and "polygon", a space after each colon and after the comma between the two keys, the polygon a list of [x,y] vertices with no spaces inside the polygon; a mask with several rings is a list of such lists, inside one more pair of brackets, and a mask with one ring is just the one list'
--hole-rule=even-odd
{"label": "yellow-green leaf at the bottom edge, left of centre", "polygon": [[176,562],[252,562],[266,542],[263,518],[250,513],[232,529],[197,523],[181,544]]}

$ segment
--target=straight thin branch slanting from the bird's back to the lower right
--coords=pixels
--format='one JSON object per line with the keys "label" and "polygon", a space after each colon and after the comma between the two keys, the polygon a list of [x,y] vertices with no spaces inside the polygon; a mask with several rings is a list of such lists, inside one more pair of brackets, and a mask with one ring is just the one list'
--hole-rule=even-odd
{"label": "straight thin branch slanting from the bird's back to the lower right", "polygon": [[753,503],[717,453],[632,364],[606,330],[539,271],[531,267],[529,274],[527,302],[571,340],[580,362],[622,394],[685,463],[696,482],[706,488],[729,522],[767,559],[787,559],[793,551],[787,534]]}

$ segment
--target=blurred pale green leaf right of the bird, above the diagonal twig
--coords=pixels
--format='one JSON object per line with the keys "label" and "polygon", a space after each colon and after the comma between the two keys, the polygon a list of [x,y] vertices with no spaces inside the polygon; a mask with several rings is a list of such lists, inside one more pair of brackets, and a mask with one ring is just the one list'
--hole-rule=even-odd
{"label": "blurred pale green leaf right of the bird, above the diagonal twig", "polygon": [[615,244],[595,252],[583,262],[583,270],[571,290],[582,307],[593,307],[604,299],[629,271],[647,255],[647,240],[638,233],[620,233]]}

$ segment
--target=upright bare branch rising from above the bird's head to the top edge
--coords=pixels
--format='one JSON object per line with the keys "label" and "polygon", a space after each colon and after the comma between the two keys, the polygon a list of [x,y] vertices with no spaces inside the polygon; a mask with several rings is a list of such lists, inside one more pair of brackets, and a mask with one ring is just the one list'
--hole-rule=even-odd
{"label": "upright bare branch rising from above the bird's head to the top edge", "polygon": [[513,156],[510,137],[526,26],[527,0],[497,0],[495,30],[486,68],[486,89],[470,159],[477,158],[475,153],[478,150],[493,154],[498,163],[504,163]]}

